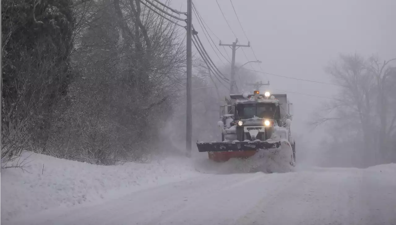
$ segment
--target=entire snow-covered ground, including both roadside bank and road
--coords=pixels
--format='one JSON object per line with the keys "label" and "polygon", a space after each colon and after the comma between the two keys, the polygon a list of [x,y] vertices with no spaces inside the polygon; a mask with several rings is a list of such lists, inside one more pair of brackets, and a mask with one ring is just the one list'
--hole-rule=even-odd
{"label": "entire snow-covered ground, including both roadside bank and road", "polygon": [[96,166],[31,157],[31,174],[0,175],[2,225],[396,225],[396,164],[227,174],[243,161]]}

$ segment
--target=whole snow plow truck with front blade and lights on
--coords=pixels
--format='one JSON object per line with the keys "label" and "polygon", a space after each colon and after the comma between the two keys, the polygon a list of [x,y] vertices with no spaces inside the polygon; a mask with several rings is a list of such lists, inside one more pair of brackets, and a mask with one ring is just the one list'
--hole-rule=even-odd
{"label": "whole snow plow truck with front blade and lights on", "polygon": [[231,94],[227,105],[220,106],[217,123],[221,142],[197,142],[198,151],[209,159],[225,162],[230,158],[248,158],[258,151],[290,149],[290,164],[295,163],[295,141],[291,136],[291,103],[286,93]]}

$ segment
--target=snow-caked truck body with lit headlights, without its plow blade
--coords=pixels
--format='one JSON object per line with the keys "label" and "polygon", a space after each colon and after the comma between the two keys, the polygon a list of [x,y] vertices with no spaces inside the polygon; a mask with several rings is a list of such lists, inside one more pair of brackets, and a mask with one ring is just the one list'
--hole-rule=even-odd
{"label": "snow-caked truck body with lit headlights, without its plow blade", "polygon": [[[291,137],[291,106],[286,93],[230,95],[227,105],[222,106],[222,140],[221,141],[253,141],[268,140],[275,127],[282,127],[287,134],[282,135],[294,145]],[[282,129],[284,133],[285,129]],[[258,131],[258,132],[257,132]]]}

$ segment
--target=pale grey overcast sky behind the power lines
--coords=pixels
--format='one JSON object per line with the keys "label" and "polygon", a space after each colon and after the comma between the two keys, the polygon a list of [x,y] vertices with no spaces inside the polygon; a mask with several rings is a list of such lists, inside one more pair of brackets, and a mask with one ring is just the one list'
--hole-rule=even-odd
{"label": "pale grey overcast sky behind the power lines", "polygon": [[[230,0],[218,2],[239,43],[247,44]],[[396,57],[396,0],[232,0],[232,3],[257,59],[263,61],[264,72],[331,82],[323,68],[337,59],[339,53]],[[215,0],[196,0],[194,4],[223,43],[235,41]],[[171,6],[186,11],[187,0],[172,0]],[[195,16],[193,25],[211,58],[222,65]],[[218,44],[219,40],[211,36]],[[225,50],[220,50],[225,55]],[[229,48],[227,51],[231,55]],[[251,49],[244,51],[249,61],[255,60]],[[241,49],[237,50],[236,61],[247,62]],[[251,66],[261,70],[258,64],[246,65]],[[295,111],[293,125],[299,132],[305,132],[312,111],[326,99],[291,92],[331,97],[337,91],[331,85],[263,75],[263,81],[267,78],[271,89],[289,91]]]}

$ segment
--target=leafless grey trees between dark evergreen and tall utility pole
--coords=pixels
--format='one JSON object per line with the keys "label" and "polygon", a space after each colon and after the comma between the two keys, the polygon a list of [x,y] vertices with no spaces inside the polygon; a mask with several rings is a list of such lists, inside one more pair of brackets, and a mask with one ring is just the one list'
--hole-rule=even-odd
{"label": "leafless grey trees between dark evergreen and tall utility pole", "polygon": [[[56,120],[51,154],[97,164],[155,150],[183,84],[181,30],[140,6],[103,0],[79,5],[70,105]],[[58,147],[59,148],[59,147]]]}

